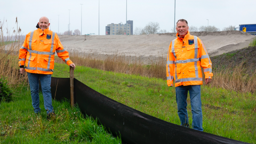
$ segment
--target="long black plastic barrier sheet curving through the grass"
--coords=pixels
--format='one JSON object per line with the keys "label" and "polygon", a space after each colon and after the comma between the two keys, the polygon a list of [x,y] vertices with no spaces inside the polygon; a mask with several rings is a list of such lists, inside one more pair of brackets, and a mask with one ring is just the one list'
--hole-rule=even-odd
{"label": "long black plastic barrier sheet curving through the grass", "polygon": [[[69,78],[52,77],[52,98],[70,99]],[[246,143],[172,124],[123,105],[75,79],[75,103],[126,143]],[[58,86],[57,86],[58,84]],[[56,91],[57,90],[57,91]]]}

